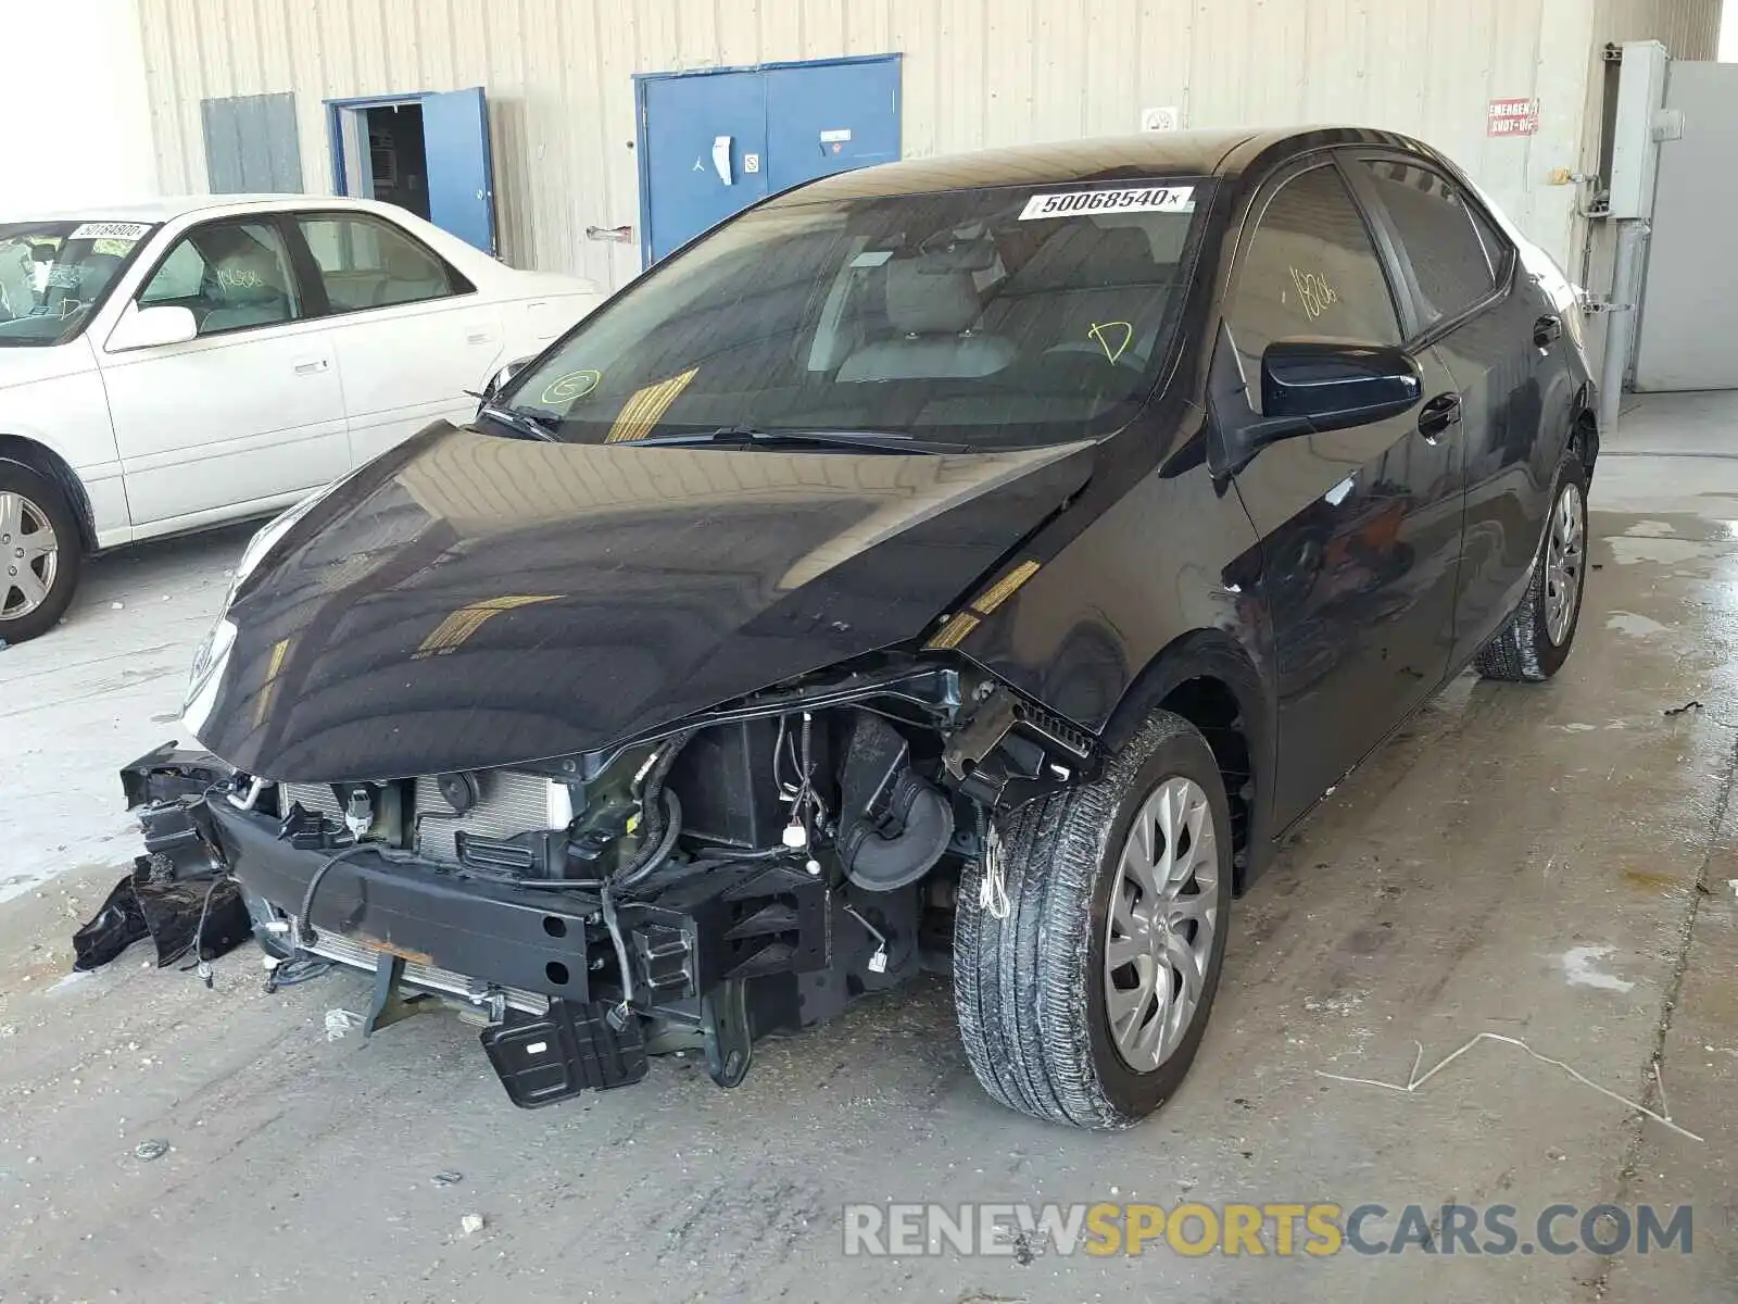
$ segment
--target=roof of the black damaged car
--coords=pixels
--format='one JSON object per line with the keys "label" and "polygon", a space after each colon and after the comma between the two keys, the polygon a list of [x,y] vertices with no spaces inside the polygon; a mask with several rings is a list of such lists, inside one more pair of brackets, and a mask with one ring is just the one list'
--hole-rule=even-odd
{"label": "roof of the black damaged car", "polygon": [[1154,176],[1234,176],[1255,160],[1267,158],[1270,151],[1302,153],[1326,144],[1357,143],[1432,153],[1404,136],[1364,127],[1140,132],[881,163],[812,181],[786,191],[780,200],[812,203],[989,186],[1053,186]]}

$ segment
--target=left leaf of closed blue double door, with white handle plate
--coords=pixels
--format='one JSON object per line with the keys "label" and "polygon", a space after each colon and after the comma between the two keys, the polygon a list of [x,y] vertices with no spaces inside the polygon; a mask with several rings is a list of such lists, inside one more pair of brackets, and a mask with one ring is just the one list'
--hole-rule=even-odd
{"label": "left leaf of closed blue double door, with white handle plate", "polygon": [[766,195],[760,73],[641,80],[645,247],[655,263]]}

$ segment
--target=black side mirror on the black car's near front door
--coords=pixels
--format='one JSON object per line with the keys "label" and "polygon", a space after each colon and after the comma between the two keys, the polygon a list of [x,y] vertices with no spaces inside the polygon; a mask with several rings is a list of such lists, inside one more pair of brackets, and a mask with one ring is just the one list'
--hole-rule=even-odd
{"label": "black side mirror on the black car's near front door", "polygon": [[1422,396],[1418,363],[1389,344],[1281,339],[1262,355],[1262,424],[1297,424],[1298,435],[1396,417]]}

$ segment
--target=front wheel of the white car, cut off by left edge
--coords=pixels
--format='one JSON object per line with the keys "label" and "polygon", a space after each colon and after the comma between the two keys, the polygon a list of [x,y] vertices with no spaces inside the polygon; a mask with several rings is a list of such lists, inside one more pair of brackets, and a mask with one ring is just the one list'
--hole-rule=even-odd
{"label": "front wheel of the white car, cut off by left edge", "polygon": [[78,520],[49,476],[0,461],[0,640],[23,643],[52,629],[78,588]]}

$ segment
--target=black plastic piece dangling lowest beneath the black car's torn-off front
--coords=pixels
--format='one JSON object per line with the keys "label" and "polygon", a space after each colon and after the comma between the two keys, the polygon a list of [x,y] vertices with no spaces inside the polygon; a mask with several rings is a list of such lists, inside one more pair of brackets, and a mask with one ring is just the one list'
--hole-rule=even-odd
{"label": "black plastic piece dangling lowest beneath the black car's torn-off front", "polygon": [[483,1050],[495,1066],[507,1099],[520,1109],[568,1101],[591,1088],[626,1087],[647,1076],[647,1043],[640,1021],[620,1031],[598,1001],[549,1001],[544,1019],[509,1015],[483,1033]]}

